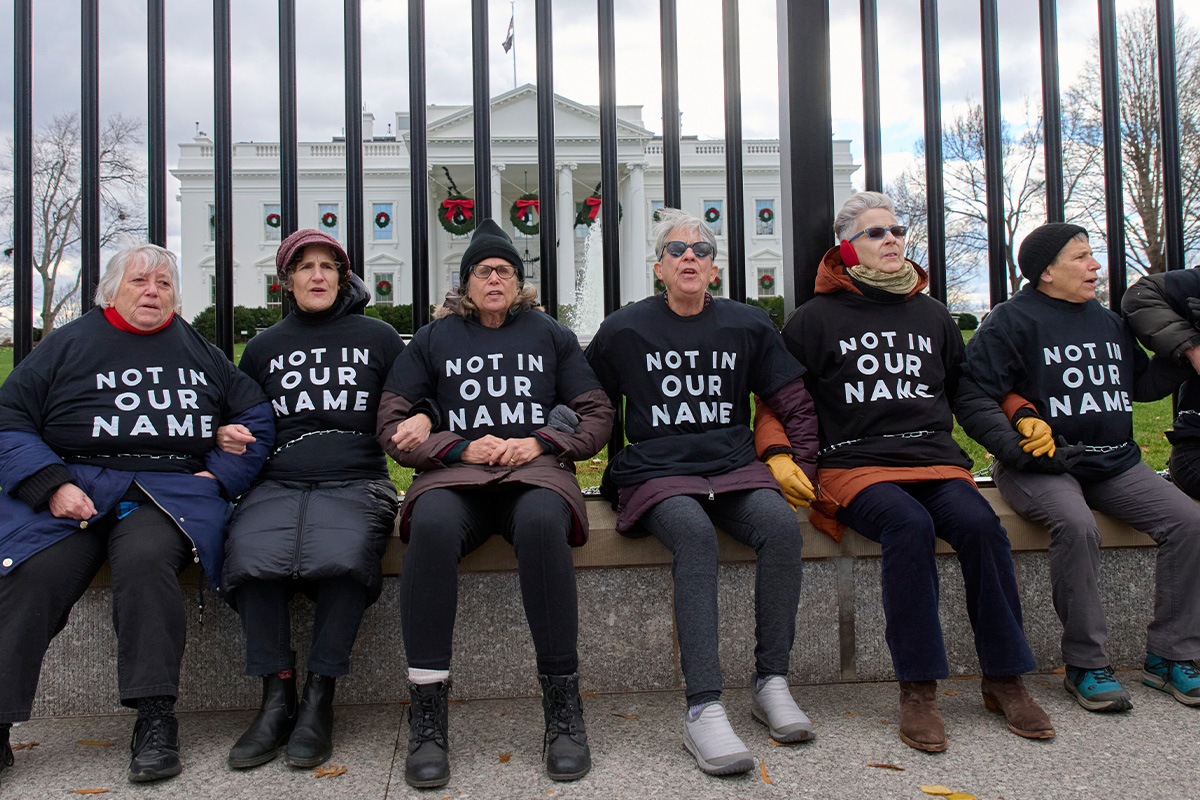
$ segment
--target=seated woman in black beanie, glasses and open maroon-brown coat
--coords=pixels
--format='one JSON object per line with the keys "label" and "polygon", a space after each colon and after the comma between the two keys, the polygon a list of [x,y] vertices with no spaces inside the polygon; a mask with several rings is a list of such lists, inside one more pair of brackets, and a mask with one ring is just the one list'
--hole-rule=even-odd
{"label": "seated woman in black beanie, glasses and open maroon-brown coat", "polygon": [[[460,285],[396,360],[379,407],[380,444],[420,470],[401,511],[408,549],[400,579],[412,697],[404,780],[415,787],[450,780],[458,560],[492,534],[516,552],[542,687],[546,772],[572,781],[592,766],[571,557],[571,546],[587,541],[588,517],[575,462],[604,446],[612,407],[575,335],[535,306],[521,255],[485,219],[463,253]],[[432,435],[430,419],[413,415],[422,401],[442,419]]]}

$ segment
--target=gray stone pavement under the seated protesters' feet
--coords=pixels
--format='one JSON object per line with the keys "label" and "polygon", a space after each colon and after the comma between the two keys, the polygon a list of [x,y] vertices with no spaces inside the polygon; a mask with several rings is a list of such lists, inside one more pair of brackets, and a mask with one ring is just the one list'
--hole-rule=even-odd
{"label": "gray stone pavement under the seated protesters' feet", "polygon": [[[919,753],[896,735],[899,690],[894,682],[793,686],[800,706],[817,722],[817,739],[772,746],[750,717],[749,693],[726,692],[733,727],[760,759],[745,776],[701,774],[680,744],[683,697],[630,692],[584,698],[594,766],[576,783],[554,783],[541,770],[541,708],[536,698],[463,700],[451,704],[450,784],[418,792],[404,784],[407,726],[403,704],[344,705],[336,711],[336,750],[330,764],[346,774],[316,778],[277,759],[247,771],[224,762],[252,711],[180,715],[184,774],[149,786],[125,780],[131,715],[38,718],[13,729],[14,742],[40,742],[16,753],[0,800],[82,796],[188,800],[246,798],[854,798],[924,795],[922,784],[944,784],[980,800],[1070,798],[1194,798],[1200,795],[1200,709],[1142,686],[1139,672],[1120,672],[1134,710],[1090,714],[1061,687],[1061,675],[1030,675],[1058,735],[1028,741],[1008,732],[979,698],[977,679],[942,681],[940,703],[950,747]],[[82,745],[78,740],[113,746]],[[872,768],[893,764],[904,771]],[[767,782],[769,778],[770,783]],[[85,795],[84,795],[85,796]]]}

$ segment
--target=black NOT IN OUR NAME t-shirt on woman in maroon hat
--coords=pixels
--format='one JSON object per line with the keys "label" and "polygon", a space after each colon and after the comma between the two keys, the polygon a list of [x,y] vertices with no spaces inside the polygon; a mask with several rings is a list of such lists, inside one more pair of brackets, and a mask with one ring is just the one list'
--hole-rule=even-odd
{"label": "black NOT IN OUR NAME t-shirt on woman in maroon hat", "polygon": [[260,479],[337,481],[386,477],[376,440],[383,383],[404,343],[362,314],[294,311],[250,341],[241,369],[266,391],[276,446]]}

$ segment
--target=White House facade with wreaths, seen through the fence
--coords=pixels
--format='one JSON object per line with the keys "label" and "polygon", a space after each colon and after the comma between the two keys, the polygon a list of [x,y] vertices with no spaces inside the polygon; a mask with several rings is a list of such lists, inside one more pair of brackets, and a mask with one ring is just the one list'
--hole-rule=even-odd
{"label": "White House facade with wreaths, seen through the fence", "polygon": [[[473,167],[473,109],[469,106],[430,106],[430,242],[431,301],[437,302],[457,282],[458,261],[469,234],[455,235],[443,219],[466,209],[448,198],[476,196]],[[524,235],[514,224],[514,204],[538,191],[536,90],[520,86],[492,100],[492,215],[527,253],[527,277],[540,279],[539,237]],[[364,276],[376,303],[412,302],[412,207],[408,156],[408,114],[395,116],[395,133],[376,131],[372,114],[364,114]],[[617,109],[617,161],[620,203],[620,284],[623,301],[654,291],[654,211],[662,205],[662,142],[642,125],[641,106]],[[600,184],[600,115],[592,106],[554,97],[554,203],[558,217],[559,303],[576,302],[576,287],[586,270],[587,224],[576,224],[581,209]],[[318,228],[344,241],[346,145],[342,139],[299,144],[299,224]],[[834,194],[841,204],[853,192],[853,163],[847,140],[833,142]],[[782,294],[784,275],[780,161],[778,140],[743,143],[745,197],[745,267],[748,294]],[[172,174],[180,181],[182,206],[180,267],[184,314],[191,319],[215,297],[214,146],[198,136],[180,145],[179,164]],[[233,254],[234,303],[266,306],[280,302],[275,282],[275,252],[280,242],[280,146],[276,143],[238,143],[233,149]],[[718,234],[718,266],[724,294],[728,261],[725,252],[725,143],[685,137],[680,143],[683,207],[704,216]],[[457,192],[455,192],[457,190]],[[540,204],[546,198],[536,198]],[[604,199],[607,199],[607,193]],[[602,200],[601,200],[602,201]],[[523,209],[528,222],[539,216]],[[596,213],[599,217],[599,213]],[[599,260],[599,257],[595,259]]]}

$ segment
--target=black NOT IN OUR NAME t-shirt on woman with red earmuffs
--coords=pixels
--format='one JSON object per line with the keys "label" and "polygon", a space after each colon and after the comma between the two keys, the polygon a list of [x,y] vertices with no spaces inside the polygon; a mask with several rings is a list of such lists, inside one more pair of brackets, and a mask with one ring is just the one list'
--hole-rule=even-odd
{"label": "black NOT IN OUR NAME t-shirt on woman with red earmuffs", "polygon": [[796,309],[784,341],[808,369],[822,468],[971,468],[952,435],[962,335],[946,306],[924,294],[822,294]]}

